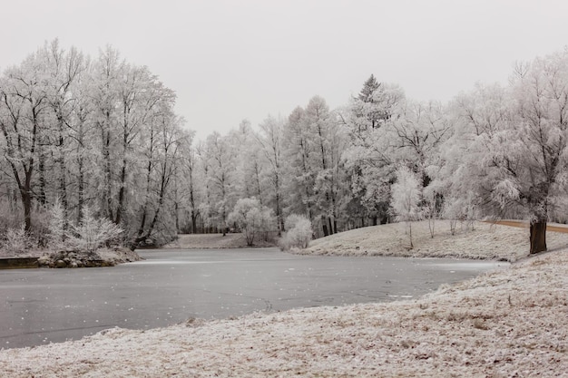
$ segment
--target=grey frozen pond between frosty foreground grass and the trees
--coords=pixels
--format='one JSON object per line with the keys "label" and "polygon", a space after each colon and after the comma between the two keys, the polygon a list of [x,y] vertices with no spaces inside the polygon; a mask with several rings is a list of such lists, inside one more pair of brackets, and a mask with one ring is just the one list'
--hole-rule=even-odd
{"label": "grey frozen pond between frosty foreground grass and the trees", "polygon": [[383,302],[506,263],[306,257],[276,248],[142,250],[118,267],[0,271],[0,348],[61,342],[105,328],[153,328],[293,307]]}

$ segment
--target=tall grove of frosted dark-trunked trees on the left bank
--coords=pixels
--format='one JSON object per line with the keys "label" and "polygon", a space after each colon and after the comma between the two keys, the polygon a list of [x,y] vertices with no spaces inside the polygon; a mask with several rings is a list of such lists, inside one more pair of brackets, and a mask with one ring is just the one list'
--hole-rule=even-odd
{"label": "tall grove of frosted dark-trunked trees on the left bank", "polygon": [[191,133],[174,93],[107,47],[95,58],[57,41],[0,77],[2,226],[45,242],[50,210],[64,228],[108,218],[132,246],[175,234],[177,176]]}

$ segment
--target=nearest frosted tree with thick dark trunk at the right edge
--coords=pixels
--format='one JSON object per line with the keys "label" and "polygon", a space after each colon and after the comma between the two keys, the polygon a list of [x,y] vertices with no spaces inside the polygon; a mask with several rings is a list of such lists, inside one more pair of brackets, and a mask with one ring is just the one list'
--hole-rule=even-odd
{"label": "nearest frosted tree with thick dark trunk at the right edge", "polygon": [[498,171],[492,199],[524,210],[531,253],[537,253],[546,250],[546,223],[568,181],[568,50],[518,70],[512,97],[514,117],[495,135],[491,153],[491,168]]}

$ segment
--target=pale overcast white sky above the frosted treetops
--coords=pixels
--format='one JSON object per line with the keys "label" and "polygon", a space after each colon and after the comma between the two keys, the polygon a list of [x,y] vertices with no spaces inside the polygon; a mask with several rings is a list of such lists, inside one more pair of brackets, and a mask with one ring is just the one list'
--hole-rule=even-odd
{"label": "pale overcast white sky above the frosted treetops", "polygon": [[568,44],[558,0],[28,0],[0,5],[0,70],[59,38],[96,55],[112,44],[178,94],[203,138],[247,118],[287,117],[318,94],[331,108],[367,77],[446,102],[506,82],[517,60]]}

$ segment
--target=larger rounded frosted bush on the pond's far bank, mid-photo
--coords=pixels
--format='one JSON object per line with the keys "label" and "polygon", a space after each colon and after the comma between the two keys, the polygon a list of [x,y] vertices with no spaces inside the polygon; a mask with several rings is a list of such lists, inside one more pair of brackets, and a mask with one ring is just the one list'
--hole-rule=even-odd
{"label": "larger rounded frosted bush on the pond's far bank, mid-photo", "polygon": [[272,211],[255,198],[239,199],[227,221],[240,229],[248,246],[252,246],[260,234],[269,232],[275,223]]}

